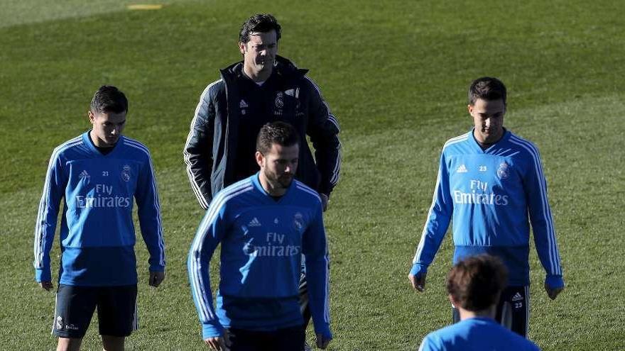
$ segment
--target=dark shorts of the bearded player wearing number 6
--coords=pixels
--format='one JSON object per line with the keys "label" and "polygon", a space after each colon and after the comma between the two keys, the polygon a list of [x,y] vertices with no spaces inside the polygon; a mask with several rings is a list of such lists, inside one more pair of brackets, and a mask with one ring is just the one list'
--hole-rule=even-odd
{"label": "dark shorts of the bearded player wearing number 6", "polygon": [[299,351],[304,350],[306,335],[302,325],[272,330],[254,331],[226,329],[225,351]]}

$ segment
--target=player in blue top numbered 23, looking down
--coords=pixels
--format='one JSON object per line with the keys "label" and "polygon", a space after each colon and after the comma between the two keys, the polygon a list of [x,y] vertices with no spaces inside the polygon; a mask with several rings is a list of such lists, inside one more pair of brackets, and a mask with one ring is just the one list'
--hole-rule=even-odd
{"label": "player in blue top numbered 23, looking down", "polygon": [[[497,320],[526,336],[530,223],[551,299],[564,289],[558,245],[538,149],[503,126],[506,87],[483,77],[469,87],[474,128],[442,147],[434,199],[409,274],[418,291],[453,218],[454,262],[489,253],[509,272]],[[454,319],[458,314],[454,311]]]}

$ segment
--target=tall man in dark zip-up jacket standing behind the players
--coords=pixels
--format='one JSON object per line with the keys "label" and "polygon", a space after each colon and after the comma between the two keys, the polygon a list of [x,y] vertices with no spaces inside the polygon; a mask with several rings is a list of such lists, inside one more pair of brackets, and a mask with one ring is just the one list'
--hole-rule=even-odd
{"label": "tall man in dark zip-up jacket standing behind the players", "polygon": [[[256,135],[265,123],[283,121],[298,130],[299,165],[295,177],[316,189],[324,210],[341,168],[339,124],[319,88],[292,62],[277,55],[281,26],[270,14],[251,16],[239,33],[243,61],[221,70],[206,87],[184,156],[191,188],[202,208],[225,186],[259,170],[254,154]],[[305,140],[310,137],[315,157]],[[305,321],[305,277],[301,283]]]}

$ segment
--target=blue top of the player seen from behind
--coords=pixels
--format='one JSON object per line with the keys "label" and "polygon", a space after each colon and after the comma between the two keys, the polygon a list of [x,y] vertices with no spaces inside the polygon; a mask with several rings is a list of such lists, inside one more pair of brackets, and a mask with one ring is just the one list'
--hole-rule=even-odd
{"label": "blue top of the player seen from behind", "polygon": [[539,351],[492,318],[468,318],[425,336],[419,351]]}

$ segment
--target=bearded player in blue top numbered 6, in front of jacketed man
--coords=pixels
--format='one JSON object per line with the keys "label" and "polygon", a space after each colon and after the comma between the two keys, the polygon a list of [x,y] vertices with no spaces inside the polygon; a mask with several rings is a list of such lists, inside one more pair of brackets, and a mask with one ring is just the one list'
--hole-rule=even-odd
{"label": "bearded player in blue top numbered 6, in front of jacketed man", "polygon": [[[325,349],[332,339],[322,201],[293,179],[299,140],[287,123],[263,126],[256,139],[260,171],[219,191],[197,230],[189,280],[202,338],[213,350],[303,350],[302,254],[317,347]],[[214,308],[209,263],[219,243]]]}

